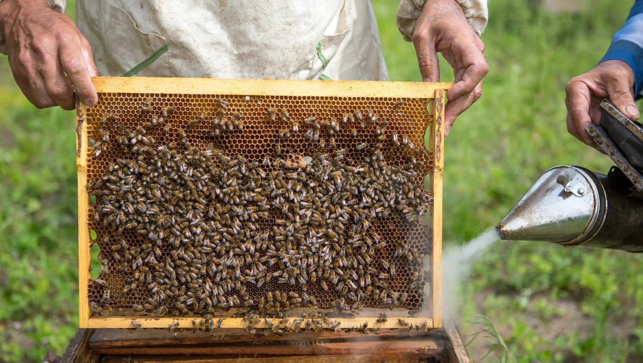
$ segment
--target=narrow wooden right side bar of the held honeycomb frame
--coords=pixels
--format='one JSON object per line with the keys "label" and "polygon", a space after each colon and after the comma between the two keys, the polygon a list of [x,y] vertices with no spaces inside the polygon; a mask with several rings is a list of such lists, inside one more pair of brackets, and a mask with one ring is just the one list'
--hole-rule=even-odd
{"label": "narrow wooden right side bar of the held honeycomb frame", "polygon": [[431,255],[431,274],[433,281],[432,305],[433,326],[442,326],[442,176],[444,173],[444,100],[446,91],[435,91],[435,112],[433,112],[433,175],[431,186],[433,190],[433,254]]}

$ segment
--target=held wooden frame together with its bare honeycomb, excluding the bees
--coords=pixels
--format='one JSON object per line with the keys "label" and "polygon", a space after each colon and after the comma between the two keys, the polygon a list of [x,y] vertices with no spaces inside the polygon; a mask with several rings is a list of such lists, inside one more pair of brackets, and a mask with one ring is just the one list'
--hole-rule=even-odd
{"label": "held wooden frame together with its bare honeycomb, excluding the bees", "polygon": [[[366,304],[373,308],[369,313],[365,309],[360,315],[343,315],[334,318],[340,322],[340,328],[363,326],[370,328],[400,328],[397,318],[402,317],[408,323],[428,328],[442,326],[441,306],[441,273],[442,273],[442,168],[444,165],[444,101],[446,89],[451,84],[419,82],[363,82],[363,81],[296,81],[296,80],[220,80],[212,78],[93,78],[98,91],[99,102],[95,107],[87,108],[77,102],[77,170],[78,170],[78,255],[79,255],[79,325],[81,328],[132,328],[132,320],[141,328],[168,328],[175,324],[177,328],[192,328],[192,315],[154,316],[141,314],[132,310],[132,304],[142,304],[146,299],[144,289],[123,293],[127,276],[116,269],[110,251],[116,243],[116,233],[100,222],[95,222],[93,198],[87,192],[87,181],[100,178],[107,172],[109,163],[118,155],[116,147],[109,147],[96,156],[93,142],[100,138],[98,128],[104,132],[114,133],[119,127],[140,127],[149,117],[141,107],[149,103],[150,107],[172,107],[166,128],[158,127],[150,135],[165,145],[176,141],[176,132],[184,130],[189,143],[198,148],[221,148],[226,155],[244,155],[248,159],[260,161],[266,154],[275,154],[275,144],[279,143],[285,155],[313,155],[320,151],[318,142],[305,139],[305,128],[293,132],[289,141],[278,141],[280,125],[279,116],[271,121],[269,109],[286,109],[289,118],[303,120],[315,116],[319,120],[338,119],[356,111],[371,111],[381,120],[388,120],[387,133],[399,132],[408,136],[408,141],[423,147],[428,145],[428,153],[419,156],[423,166],[417,171],[417,183],[426,185],[426,191],[433,197],[433,203],[424,222],[411,224],[401,218],[387,217],[383,222],[374,225],[377,233],[385,238],[388,249],[383,248],[376,254],[377,258],[392,258],[396,241],[405,240],[428,256],[424,265],[428,267],[424,275],[426,296],[408,291],[408,299],[399,304],[400,308],[388,312],[388,321],[377,322],[377,312],[383,312],[382,306]],[[213,139],[208,132],[212,123],[212,114],[217,102],[228,103],[227,110],[244,115],[243,130],[231,132]],[[147,107],[147,106],[146,106]],[[100,118],[114,114],[114,120]],[[203,115],[206,115],[203,117]],[[198,125],[188,125],[191,120],[200,118]],[[339,121],[338,121],[339,122]],[[358,122],[358,121],[355,121]],[[334,140],[338,148],[347,148],[347,154],[358,161],[355,145],[375,142],[374,127],[359,128],[359,136],[352,135],[356,125],[346,125]],[[354,132],[353,132],[354,133]],[[210,135],[210,136],[208,136]],[[388,134],[387,134],[388,135]],[[322,136],[323,137],[323,136]],[[388,136],[387,136],[388,137]],[[426,143],[425,143],[426,141]],[[360,150],[359,148],[357,150]],[[395,147],[383,149],[386,161],[395,164],[403,158],[403,153]],[[360,159],[361,158],[361,159]],[[426,178],[424,177],[426,175]],[[267,226],[269,227],[269,226]],[[266,228],[267,228],[266,227]],[[123,238],[119,236],[118,238]],[[124,237],[127,238],[127,237]],[[130,243],[143,243],[144,238],[132,237]],[[98,285],[91,279],[90,251],[93,243],[100,247],[99,261],[104,261],[100,279],[104,285]],[[376,260],[377,260],[376,258]],[[428,263],[427,263],[428,261]],[[276,266],[276,265],[275,265]],[[392,287],[399,287],[397,294],[405,291],[410,274],[422,268],[420,265],[400,265],[397,275],[391,279]],[[307,285],[308,286],[308,285]],[[309,284],[309,294],[317,299],[320,309],[331,308],[331,303],[338,293],[331,289],[325,292],[315,284]],[[89,305],[100,300],[105,288],[111,291],[111,312],[92,314]],[[296,287],[279,287],[284,291],[298,291]],[[257,299],[263,294],[261,289],[249,287],[250,296]],[[253,300],[255,301],[255,300]],[[376,310],[377,309],[377,310]],[[421,309],[421,314],[409,317],[405,309]],[[223,328],[242,328],[242,317],[231,317],[234,309],[226,314],[222,321]],[[292,314],[299,316],[301,312]],[[325,324],[325,323],[324,323]],[[263,328],[264,322],[255,325]],[[327,324],[324,326],[329,328]]]}

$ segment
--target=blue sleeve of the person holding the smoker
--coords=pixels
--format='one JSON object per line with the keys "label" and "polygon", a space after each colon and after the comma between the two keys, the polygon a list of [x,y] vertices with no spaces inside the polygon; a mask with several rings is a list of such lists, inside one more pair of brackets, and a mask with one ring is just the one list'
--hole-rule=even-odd
{"label": "blue sleeve of the person holding the smoker", "polygon": [[643,96],[643,0],[636,0],[628,20],[614,34],[610,49],[601,62],[618,59],[626,62],[634,71],[634,94]]}

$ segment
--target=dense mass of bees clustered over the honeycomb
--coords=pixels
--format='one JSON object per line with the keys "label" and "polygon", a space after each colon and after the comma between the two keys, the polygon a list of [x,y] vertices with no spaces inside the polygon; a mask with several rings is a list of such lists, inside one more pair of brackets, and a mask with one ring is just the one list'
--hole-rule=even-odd
{"label": "dense mass of bees clustered over the honeycomb", "polygon": [[[87,190],[97,200],[93,222],[113,231],[102,238],[111,246],[108,260],[125,276],[120,293],[147,297],[132,305],[134,311],[201,316],[193,328],[211,330],[223,321],[214,314],[234,308],[251,333],[323,326],[334,331],[339,323],[331,315],[289,321],[286,312],[320,308],[311,285],[336,296],[332,306],[322,307],[337,314],[359,314],[367,305],[404,306],[408,292],[401,290],[423,294],[425,252],[395,242],[393,260],[381,258],[389,242],[376,226],[393,215],[419,223],[428,211],[432,198],[415,171],[424,147],[387,130],[388,121],[370,111],[320,121],[294,120],[285,109],[267,111],[266,120],[282,126],[273,153],[262,159],[191,145],[187,132],[206,120],[213,139],[246,127],[243,114],[229,110],[224,100],[216,102],[214,110],[187,121],[186,130],[176,134],[178,142],[163,143],[150,135],[158,128],[168,132],[174,108],[155,109],[149,100],[140,107],[149,118],[141,127],[127,128],[114,114],[99,120],[93,157],[110,148],[127,157],[109,164]],[[356,128],[361,132],[367,123],[375,124],[376,141],[355,143],[354,150],[338,148],[334,136],[340,124],[349,122],[353,136]],[[112,132],[105,131],[108,123]],[[285,168],[280,143],[299,133],[321,150],[303,168]],[[387,164],[386,146],[404,147],[406,163]],[[356,153],[365,161],[352,159]],[[417,271],[403,287],[394,285],[400,262]],[[258,290],[259,297],[253,299],[249,290],[253,296]],[[104,288],[104,296],[91,302],[93,312],[109,308],[110,293]],[[255,328],[260,321],[263,330]],[[386,322],[386,314],[377,321]],[[140,323],[132,320],[132,326]],[[168,330],[176,334],[177,326]],[[362,330],[377,333],[367,326]]]}

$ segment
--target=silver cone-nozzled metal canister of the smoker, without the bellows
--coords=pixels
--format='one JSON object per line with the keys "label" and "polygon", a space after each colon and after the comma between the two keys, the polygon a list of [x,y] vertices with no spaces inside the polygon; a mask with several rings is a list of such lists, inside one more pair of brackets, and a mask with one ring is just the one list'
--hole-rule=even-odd
{"label": "silver cone-nozzled metal canister of the smoker, without the bellows", "polygon": [[617,189],[606,175],[555,166],[538,178],[496,232],[502,240],[643,252],[643,201]]}

